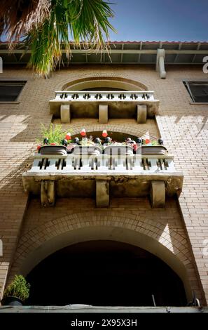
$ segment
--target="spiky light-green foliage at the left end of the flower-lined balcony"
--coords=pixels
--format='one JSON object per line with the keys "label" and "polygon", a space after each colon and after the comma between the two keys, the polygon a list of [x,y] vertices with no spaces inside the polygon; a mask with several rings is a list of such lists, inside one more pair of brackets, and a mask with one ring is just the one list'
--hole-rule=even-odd
{"label": "spiky light-green foliage at the left end of the flower-lined balcony", "polygon": [[36,142],[43,144],[43,139],[48,138],[49,144],[56,143],[57,145],[60,145],[68,132],[73,133],[71,129],[68,131],[62,131],[62,125],[50,124],[49,127],[46,127],[45,125],[41,124],[41,138],[37,139]]}

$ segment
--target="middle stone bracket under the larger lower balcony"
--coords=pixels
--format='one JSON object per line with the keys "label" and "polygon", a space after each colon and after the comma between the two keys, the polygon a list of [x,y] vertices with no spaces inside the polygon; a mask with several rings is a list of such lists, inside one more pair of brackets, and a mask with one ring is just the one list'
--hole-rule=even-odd
{"label": "middle stone bracket under the larger lower balcony", "polygon": [[96,206],[109,206],[109,181],[96,180]]}

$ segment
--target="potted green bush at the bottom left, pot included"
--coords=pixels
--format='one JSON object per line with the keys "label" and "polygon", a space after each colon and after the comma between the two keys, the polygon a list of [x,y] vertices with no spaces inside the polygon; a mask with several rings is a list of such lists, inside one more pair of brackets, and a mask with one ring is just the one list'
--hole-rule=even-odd
{"label": "potted green bush at the bottom left, pot included", "polygon": [[4,291],[4,298],[1,301],[2,305],[18,306],[29,297],[30,284],[22,275],[15,275],[13,282]]}

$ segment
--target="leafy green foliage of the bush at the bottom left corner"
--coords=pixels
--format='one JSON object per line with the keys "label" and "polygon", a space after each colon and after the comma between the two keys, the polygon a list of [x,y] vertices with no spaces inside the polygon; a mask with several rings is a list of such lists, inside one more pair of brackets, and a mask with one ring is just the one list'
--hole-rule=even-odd
{"label": "leafy green foliage of the bush at the bottom left corner", "polygon": [[26,301],[29,297],[30,284],[27,283],[25,277],[22,275],[15,275],[13,282],[4,291],[4,298],[13,296],[19,298],[21,301]]}

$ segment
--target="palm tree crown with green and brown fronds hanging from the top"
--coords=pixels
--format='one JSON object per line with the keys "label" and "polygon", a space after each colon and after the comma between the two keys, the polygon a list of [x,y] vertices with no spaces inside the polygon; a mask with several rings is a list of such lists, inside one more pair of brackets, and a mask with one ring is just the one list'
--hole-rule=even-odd
{"label": "palm tree crown with green and brown fronds hanging from the top", "polygon": [[70,59],[71,45],[107,47],[109,29],[115,31],[110,5],[103,0],[1,0],[0,36],[6,33],[10,48],[23,42],[31,50],[29,67],[48,77],[63,51]]}

